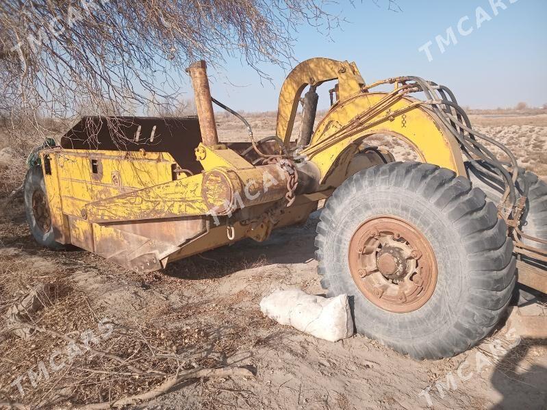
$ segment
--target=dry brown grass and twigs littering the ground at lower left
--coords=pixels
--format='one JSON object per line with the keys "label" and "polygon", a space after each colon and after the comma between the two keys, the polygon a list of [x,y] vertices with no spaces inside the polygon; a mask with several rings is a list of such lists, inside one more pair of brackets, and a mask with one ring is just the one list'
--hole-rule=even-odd
{"label": "dry brown grass and twigs littering the ground at lower left", "polygon": [[[32,259],[26,261],[11,255],[1,255],[0,266],[2,316],[37,281],[53,285],[55,289],[51,300],[29,315],[28,323],[23,324],[36,330],[28,340],[3,330],[7,339],[0,342],[0,385],[5,389],[0,391],[0,401],[22,401],[49,408],[55,403],[84,405],[140,394],[177,372],[225,365],[227,358],[238,350],[258,342],[246,332],[249,323],[262,328],[271,325],[262,316],[227,317],[225,312],[249,297],[242,291],[218,298],[214,304],[188,303],[181,310],[150,309],[149,318],[140,318],[138,322],[118,317],[108,324],[112,326],[112,333],[99,337],[106,334],[105,324],[100,322],[106,312],[97,305],[96,297],[75,285],[68,274],[71,270],[66,266],[60,269],[53,262],[44,273],[36,270]],[[179,288],[184,281],[168,277],[164,280],[173,285],[179,282]],[[218,318],[216,326],[173,326],[203,313]],[[91,337],[97,337],[97,343],[83,342],[88,331],[92,332]],[[68,350],[71,340],[79,351],[74,357]],[[58,371],[51,370],[49,362],[55,352],[60,352],[55,363],[67,363]],[[40,362],[45,364],[49,378],[38,380],[33,387],[27,372],[38,373]],[[15,387],[10,387],[17,376],[24,377],[23,399]]]}

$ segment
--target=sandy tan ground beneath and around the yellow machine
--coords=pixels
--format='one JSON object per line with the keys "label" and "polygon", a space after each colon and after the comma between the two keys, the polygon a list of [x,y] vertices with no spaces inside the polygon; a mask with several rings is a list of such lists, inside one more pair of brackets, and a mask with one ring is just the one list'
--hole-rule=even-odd
{"label": "sandy tan ground beneath and around the yellow machine", "polygon": [[[544,177],[547,119],[533,118],[539,125],[527,121],[499,124],[485,118],[479,125],[521,150],[517,154],[526,155],[526,164]],[[262,122],[267,128],[271,120]],[[225,136],[236,135],[220,128]],[[33,383],[29,370],[38,372],[40,361],[49,366],[52,352],[68,342],[44,331],[28,340],[10,334],[0,338],[0,402],[73,408],[70,402],[104,402],[163,380],[150,372],[136,376],[131,363],[166,372],[175,365],[246,366],[255,374],[190,379],[129,406],[139,409],[547,408],[547,341],[515,330],[516,308],[479,346],[440,361],[414,361],[360,335],[325,342],[264,318],[258,304],[273,290],[325,292],[314,259],[320,211],[303,226],[275,231],[266,242],[244,240],[175,262],[165,272],[137,274],[84,251],[44,250],[31,239],[21,198],[1,201],[0,313],[33,283],[54,283],[54,296],[30,322],[77,339],[89,329],[97,333],[107,318],[114,332],[95,349],[125,363],[84,351],[62,370],[47,367],[49,377]],[[540,303],[520,309],[547,315]],[[12,385],[18,376],[25,396]]]}

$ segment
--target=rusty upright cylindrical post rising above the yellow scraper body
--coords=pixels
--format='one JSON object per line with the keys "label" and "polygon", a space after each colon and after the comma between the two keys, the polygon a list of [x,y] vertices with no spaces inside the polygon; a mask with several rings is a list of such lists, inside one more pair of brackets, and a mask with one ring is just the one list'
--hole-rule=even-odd
{"label": "rusty upright cylindrical post rising above the yellow scraper body", "polygon": [[194,88],[201,140],[205,145],[216,145],[218,144],[218,133],[216,132],[211,90],[207,78],[207,64],[205,61],[199,60],[190,64],[190,67],[186,68],[186,72],[190,74],[192,88]]}

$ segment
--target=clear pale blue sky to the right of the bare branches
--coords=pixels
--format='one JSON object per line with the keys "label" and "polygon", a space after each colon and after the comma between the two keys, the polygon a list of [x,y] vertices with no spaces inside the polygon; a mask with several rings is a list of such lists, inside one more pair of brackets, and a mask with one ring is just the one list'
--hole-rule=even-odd
{"label": "clear pale blue sky to the right of the bare branches", "polygon": [[[398,13],[378,8],[370,0],[357,1],[355,7],[341,1],[350,23],[331,33],[331,38],[312,27],[301,27],[295,56],[298,61],[316,56],[355,61],[369,83],[396,75],[419,75],[449,86],[462,105],[471,107],[508,107],[519,101],[541,106],[547,103],[547,1],[501,2],[507,8],[498,6],[496,16],[490,0],[398,0],[403,9]],[[478,7],[487,13],[479,10],[480,28]],[[458,31],[464,16],[469,19],[463,21],[461,31],[473,29],[467,36]],[[457,44],[440,53],[435,37],[446,37],[448,27],[453,27]],[[429,40],[433,42],[431,62],[418,51]],[[223,68],[210,70],[212,94],[237,110],[276,110],[286,73],[277,66],[262,68],[274,78],[273,84],[261,84],[252,68],[229,60]],[[183,88],[188,90],[188,86]],[[326,93],[320,93],[322,107]]]}

